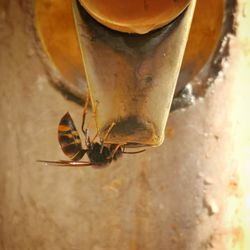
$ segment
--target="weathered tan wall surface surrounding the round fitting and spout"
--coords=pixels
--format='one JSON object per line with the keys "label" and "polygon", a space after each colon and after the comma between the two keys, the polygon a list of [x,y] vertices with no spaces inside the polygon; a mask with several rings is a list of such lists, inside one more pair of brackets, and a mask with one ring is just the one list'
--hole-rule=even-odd
{"label": "weathered tan wall surface surrounding the round fitting and spout", "polygon": [[0,249],[248,250],[249,5],[227,67],[205,99],[171,114],[165,143],[95,170],[36,163],[65,159],[57,124],[70,111],[80,125],[81,107],[50,84],[32,6],[1,1]]}

